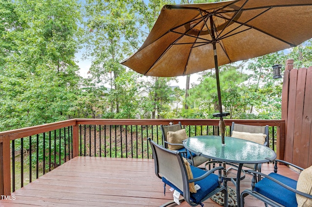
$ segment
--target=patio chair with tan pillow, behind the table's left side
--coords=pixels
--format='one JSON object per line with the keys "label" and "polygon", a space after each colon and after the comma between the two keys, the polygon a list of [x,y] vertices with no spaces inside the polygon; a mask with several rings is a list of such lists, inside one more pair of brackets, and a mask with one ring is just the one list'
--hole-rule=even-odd
{"label": "patio chair with tan pillow, behind the table's left side", "polygon": [[185,132],[185,129],[182,128],[180,121],[177,124],[172,125],[160,124],[160,129],[164,147],[169,150],[177,150],[181,153],[185,152],[185,157],[190,160],[193,166],[197,167],[209,160],[206,157],[191,153],[184,148],[182,141],[188,138],[188,136]]}

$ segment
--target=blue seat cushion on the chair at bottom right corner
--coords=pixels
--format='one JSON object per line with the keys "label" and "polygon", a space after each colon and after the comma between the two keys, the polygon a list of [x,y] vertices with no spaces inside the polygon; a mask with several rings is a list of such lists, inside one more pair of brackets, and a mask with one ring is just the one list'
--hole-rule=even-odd
{"label": "blue seat cushion on the chair at bottom right corner", "polygon": [[[277,173],[270,173],[269,176],[280,181],[281,183],[296,189],[297,181],[285,177]],[[296,207],[298,206],[296,200],[296,194],[291,190],[287,190],[284,187],[278,185],[268,178],[261,179],[258,183],[255,184],[254,191],[266,196],[267,198],[272,199],[273,201],[286,206],[286,207]]]}

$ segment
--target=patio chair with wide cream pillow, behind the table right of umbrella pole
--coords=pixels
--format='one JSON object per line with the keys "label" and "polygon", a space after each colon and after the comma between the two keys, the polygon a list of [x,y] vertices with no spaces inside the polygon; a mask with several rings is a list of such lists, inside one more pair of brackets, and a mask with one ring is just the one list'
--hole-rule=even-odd
{"label": "patio chair with wide cream pillow, behind the table right of umbrella pole", "polygon": [[[268,146],[269,125],[251,126],[251,125],[237,124],[233,121],[232,127],[231,127],[231,137],[243,138],[243,139],[257,142],[259,144],[263,144],[264,146]],[[250,168],[252,170],[261,172],[261,164],[244,164],[243,166]],[[231,169],[233,169],[233,167],[229,168],[227,171]],[[250,170],[247,169],[244,171],[246,173],[249,173]],[[260,175],[258,176],[258,179],[259,180],[261,179]]]}

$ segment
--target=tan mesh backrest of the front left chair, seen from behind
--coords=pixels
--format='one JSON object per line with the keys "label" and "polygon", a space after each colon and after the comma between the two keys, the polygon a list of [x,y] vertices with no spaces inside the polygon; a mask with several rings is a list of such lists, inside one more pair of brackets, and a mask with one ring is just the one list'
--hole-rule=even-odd
{"label": "tan mesh backrest of the front left chair, seen from behind", "polygon": [[150,138],[148,140],[152,147],[156,175],[166,178],[182,192],[188,192],[187,173],[180,153],[161,147]]}

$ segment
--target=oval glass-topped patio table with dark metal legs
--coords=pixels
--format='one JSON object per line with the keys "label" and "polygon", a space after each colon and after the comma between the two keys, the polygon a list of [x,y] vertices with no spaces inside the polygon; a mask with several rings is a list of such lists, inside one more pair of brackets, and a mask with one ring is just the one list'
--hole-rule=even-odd
{"label": "oval glass-topped patio table with dark metal legs", "polygon": [[237,163],[237,176],[232,179],[236,186],[237,206],[240,206],[240,173],[243,164],[269,162],[276,158],[275,152],[264,145],[245,139],[225,137],[225,145],[221,144],[221,136],[195,136],[183,141],[183,145],[191,152],[213,160]]}

